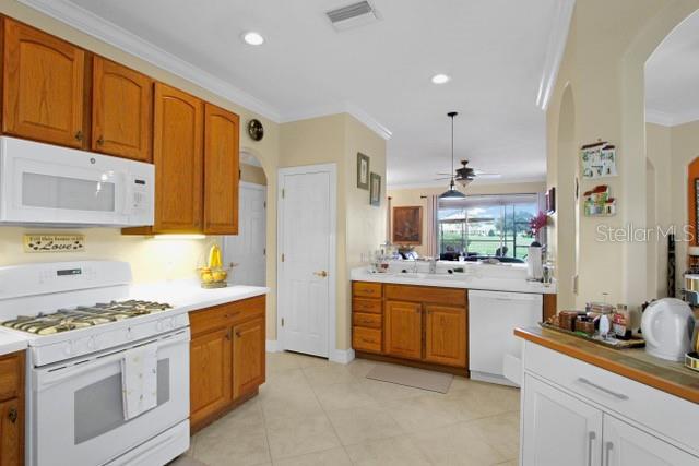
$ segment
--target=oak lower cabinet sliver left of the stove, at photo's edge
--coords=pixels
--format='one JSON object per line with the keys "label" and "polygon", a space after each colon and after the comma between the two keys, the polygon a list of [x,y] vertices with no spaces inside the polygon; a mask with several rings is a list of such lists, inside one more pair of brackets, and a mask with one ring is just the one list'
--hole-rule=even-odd
{"label": "oak lower cabinet sliver left of the stove, at photo's edge", "polygon": [[24,465],[24,351],[0,357],[0,466]]}

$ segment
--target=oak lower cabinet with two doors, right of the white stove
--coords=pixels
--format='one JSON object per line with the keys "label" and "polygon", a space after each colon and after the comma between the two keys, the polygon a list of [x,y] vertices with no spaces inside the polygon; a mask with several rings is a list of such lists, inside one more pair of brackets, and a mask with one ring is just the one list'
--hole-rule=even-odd
{"label": "oak lower cabinet with two doors, right of the white stove", "polygon": [[260,296],[190,314],[192,433],[257,394],[264,383],[264,308]]}

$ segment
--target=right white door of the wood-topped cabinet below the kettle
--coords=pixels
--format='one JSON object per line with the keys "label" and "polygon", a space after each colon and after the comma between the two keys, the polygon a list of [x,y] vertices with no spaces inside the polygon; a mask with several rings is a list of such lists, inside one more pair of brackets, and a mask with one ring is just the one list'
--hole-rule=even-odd
{"label": "right white door of the wood-topped cabinet below the kettle", "polygon": [[697,466],[699,458],[604,415],[604,466]]}

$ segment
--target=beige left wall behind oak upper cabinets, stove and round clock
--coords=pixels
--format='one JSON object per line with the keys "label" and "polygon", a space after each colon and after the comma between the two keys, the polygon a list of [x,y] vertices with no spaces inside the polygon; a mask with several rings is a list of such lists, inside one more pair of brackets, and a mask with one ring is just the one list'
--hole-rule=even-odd
{"label": "beige left wall behind oak upper cabinets, stove and round clock", "polygon": [[[73,29],[14,0],[0,0],[0,12],[24,23],[34,25],[63,39],[70,40],[85,49],[123,63],[141,71],[155,80],[189,92],[240,116],[241,127],[251,118],[264,124],[264,139],[252,141],[246,131],[240,132],[240,148],[253,154],[268,174],[270,188],[268,192],[268,263],[266,283],[273,290],[276,287],[276,167],[279,165],[279,124],[244,107],[236,105],[202,89],[197,85],[163,71],[149,62],[111,47],[92,36]],[[26,254],[22,252],[22,234],[24,231],[54,231],[52,229],[23,229],[0,227],[0,265],[32,261],[68,261],[73,259],[114,259],[129,261],[134,271],[137,282],[154,282],[169,278],[194,276],[194,268],[200,258],[216,237],[206,240],[155,240],[142,237],[126,237],[117,229],[93,228],[81,232],[86,235],[86,250],[80,254]],[[275,292],[268,297],[268,314],[276,307]],[[268,320],[268,332],[275,335],[274,320]]]}

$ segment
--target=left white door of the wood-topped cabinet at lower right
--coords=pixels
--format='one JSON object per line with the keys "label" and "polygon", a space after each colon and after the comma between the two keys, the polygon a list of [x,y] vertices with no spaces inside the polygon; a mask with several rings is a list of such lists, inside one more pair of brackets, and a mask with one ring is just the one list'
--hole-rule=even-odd
{"label": "left white door of the wood-topped cabinet at lower right", "polygon": [[529,374],[522,466],[601,466],[602,411]]}

